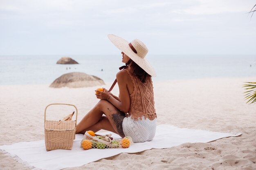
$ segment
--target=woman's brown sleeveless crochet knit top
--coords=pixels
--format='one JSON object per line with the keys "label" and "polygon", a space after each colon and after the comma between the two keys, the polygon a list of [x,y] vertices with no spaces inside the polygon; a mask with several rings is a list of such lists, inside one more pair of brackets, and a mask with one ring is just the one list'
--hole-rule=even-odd
{"label": "woman's brown sleeveless crochet knit top", "polygon": [[130,110],[128,112],[128,117],[131,116],[134,120],[141,120],[142,116],[146,119],[155,118],[157,114],[155,113],[155,101],[153,93],[153,83],[151,77],[147,77],[146,81],[142,83],[137,76],[131,75],[127,70],[127,73],[132,79],[134,90],[130,94]]}

